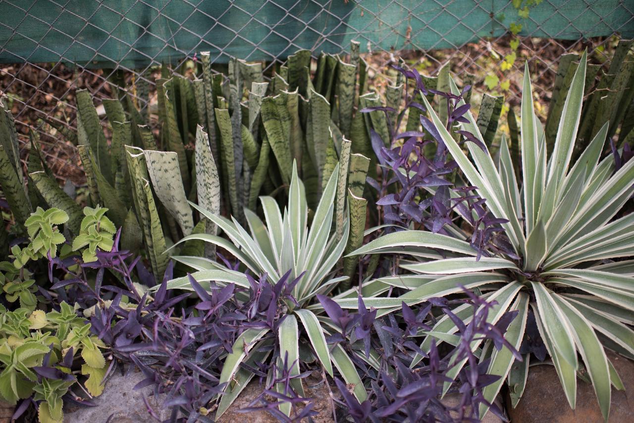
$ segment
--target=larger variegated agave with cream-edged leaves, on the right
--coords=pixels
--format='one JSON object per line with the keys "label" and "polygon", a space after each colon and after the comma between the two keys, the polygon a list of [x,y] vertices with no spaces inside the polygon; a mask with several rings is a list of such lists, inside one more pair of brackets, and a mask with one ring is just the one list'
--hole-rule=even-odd
{"label": "larger variegated agave with cream-edged leaves, on the right", "polygon": [[[495,313],[489,313],[491,323],[509,309],[519,311],[507,332],[508,341],[519,348],[531,308],[571,407],[575,406],[576,372],[585,364],[607,419],[611,384],[616,387],[623,384],[607,360],[602,339],[609,338],[610,349],[634,355],[634,331],[630,326],[634,323],[634,260],[611,261],[632,256],[634,252],[634,213],[617,217],[634,193],[634,160],[620,169],[614,168],[611,157],[599,160],[607,134],[605,124],[580,159],[570,163],[585,75],[584,54],[567,94],[553,153],[547,159],[526,68],[521,115],[521,188],[505,141],[501,143],[497,166],[489,153],[475,143],[467,143],[470,158],[467,157],[423,98],[430,118],[471,185],[477,186],[479,195],[486,198],[495,218],[508,220],[503,226],[519,259],[505,255],[478,259],[477,251],[468,242],[427,231],[391,233],[352,254],[394,252],[401,247],[403,254],[415,257],[401,261],[401,268],[415,275],[366,283],[363,294],[373,297],[365,298],[365,304],[380,308],[379,314],[398,308],[401,301],[411,305],[430,297],[456,294],[461,285],[479,288],[489,301],[498,303]],[[452,90],[457,92],[455,84]],[[460,129],[482,140],[474,118],[470,113],[466,116],[469,122],[460,124]],[[409,291],[399,298],[376,296],[390,286]],[[336,301],[343,308],[357,306],[354,298]],[[462,306],[455,313],[470,320],[472,311]],[[449,341],[448,334],[455,331],[451,320],[439,320],[422,349],[429,347],[432,336]],[[477,343],[473,345],[474,349],[478,347]],[[512,371],[514,358],[508,349],[497,350],[485,344],[481,360],[486,358],[491,359],[487,373],[501,375],[499,381],[484,388],[486,399],[493,400],[508,377],[516,403],[526,383],[529,355]],[[483,407],[481,415],[484,413]]]}

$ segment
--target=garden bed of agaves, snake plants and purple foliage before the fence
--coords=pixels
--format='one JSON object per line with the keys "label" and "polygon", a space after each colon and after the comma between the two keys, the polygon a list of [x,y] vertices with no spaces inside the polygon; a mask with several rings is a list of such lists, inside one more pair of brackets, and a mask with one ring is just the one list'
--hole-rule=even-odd
{"label": "garden bed of agaves, snake plants and purple foliage before the fence", "polygon": [[22,166],[3,98],[0,398],[41,422],[491,421],[549,363],[571,408],[621,415],[631,46],[562,58],[543,124],[526,72],[504,131],[449,67],[392,63],[380,96],[356,43],[271,79],[201,53],[162,68],[154,129],[139,82],[105,131],[75,91],[77,191],[37,138]]}

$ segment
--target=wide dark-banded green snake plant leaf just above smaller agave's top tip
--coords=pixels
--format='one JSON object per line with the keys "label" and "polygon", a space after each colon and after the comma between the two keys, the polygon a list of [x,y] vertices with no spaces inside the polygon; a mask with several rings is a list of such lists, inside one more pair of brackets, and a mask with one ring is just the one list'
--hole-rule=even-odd
{"label": "wide dark-banded green snake plant leaf just above smaller agave's top tip", "polygon": [[266,136],[269,141],[269,145],[275,154],[275,159],[280,167],[281,177],[283,183],[288,185],[290,183],[290,176],[292,171],[292,160],[290,155],[290,145],[288,145],[288,138],[285,136],[280,117],[278,115],[278,108],[276,106],[275,98],[266,97],[262,100],[262,124],[266,130]]}

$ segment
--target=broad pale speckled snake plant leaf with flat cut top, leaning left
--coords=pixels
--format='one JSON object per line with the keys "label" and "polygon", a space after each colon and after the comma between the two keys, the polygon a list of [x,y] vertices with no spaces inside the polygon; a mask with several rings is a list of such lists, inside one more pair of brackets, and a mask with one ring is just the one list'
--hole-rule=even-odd
{"label": "broad pale speckled snake plant leaf with flat cut top, leaning left", "polygon": [[165,209],[178,222],[184,235],[190,235],[194,223],[178,167],[178,154],[145,150],[148,174]]}

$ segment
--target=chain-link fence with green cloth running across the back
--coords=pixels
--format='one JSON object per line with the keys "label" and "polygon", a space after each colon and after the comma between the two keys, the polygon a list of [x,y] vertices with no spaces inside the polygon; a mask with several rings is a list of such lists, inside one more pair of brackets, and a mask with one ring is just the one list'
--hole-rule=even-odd
{"label": "chain-link fence with green cloth running across the back", "polygon": [[355,40],[371,77],[399,56],[430,75],[450,63],[512,103],[525,60],[544,98],[562,54],[588,48],[600,63],[634,37],[633,0],[0,0],[0,16],[0,89],[23,145],[39,133],[49,166],[75,181],[74,146],[43,122],[74,129],[75,89],[111,97],[123,76],[153,91],[157,67],[183,69],[200,51],[271,74],[297,49],[342,53]]}

